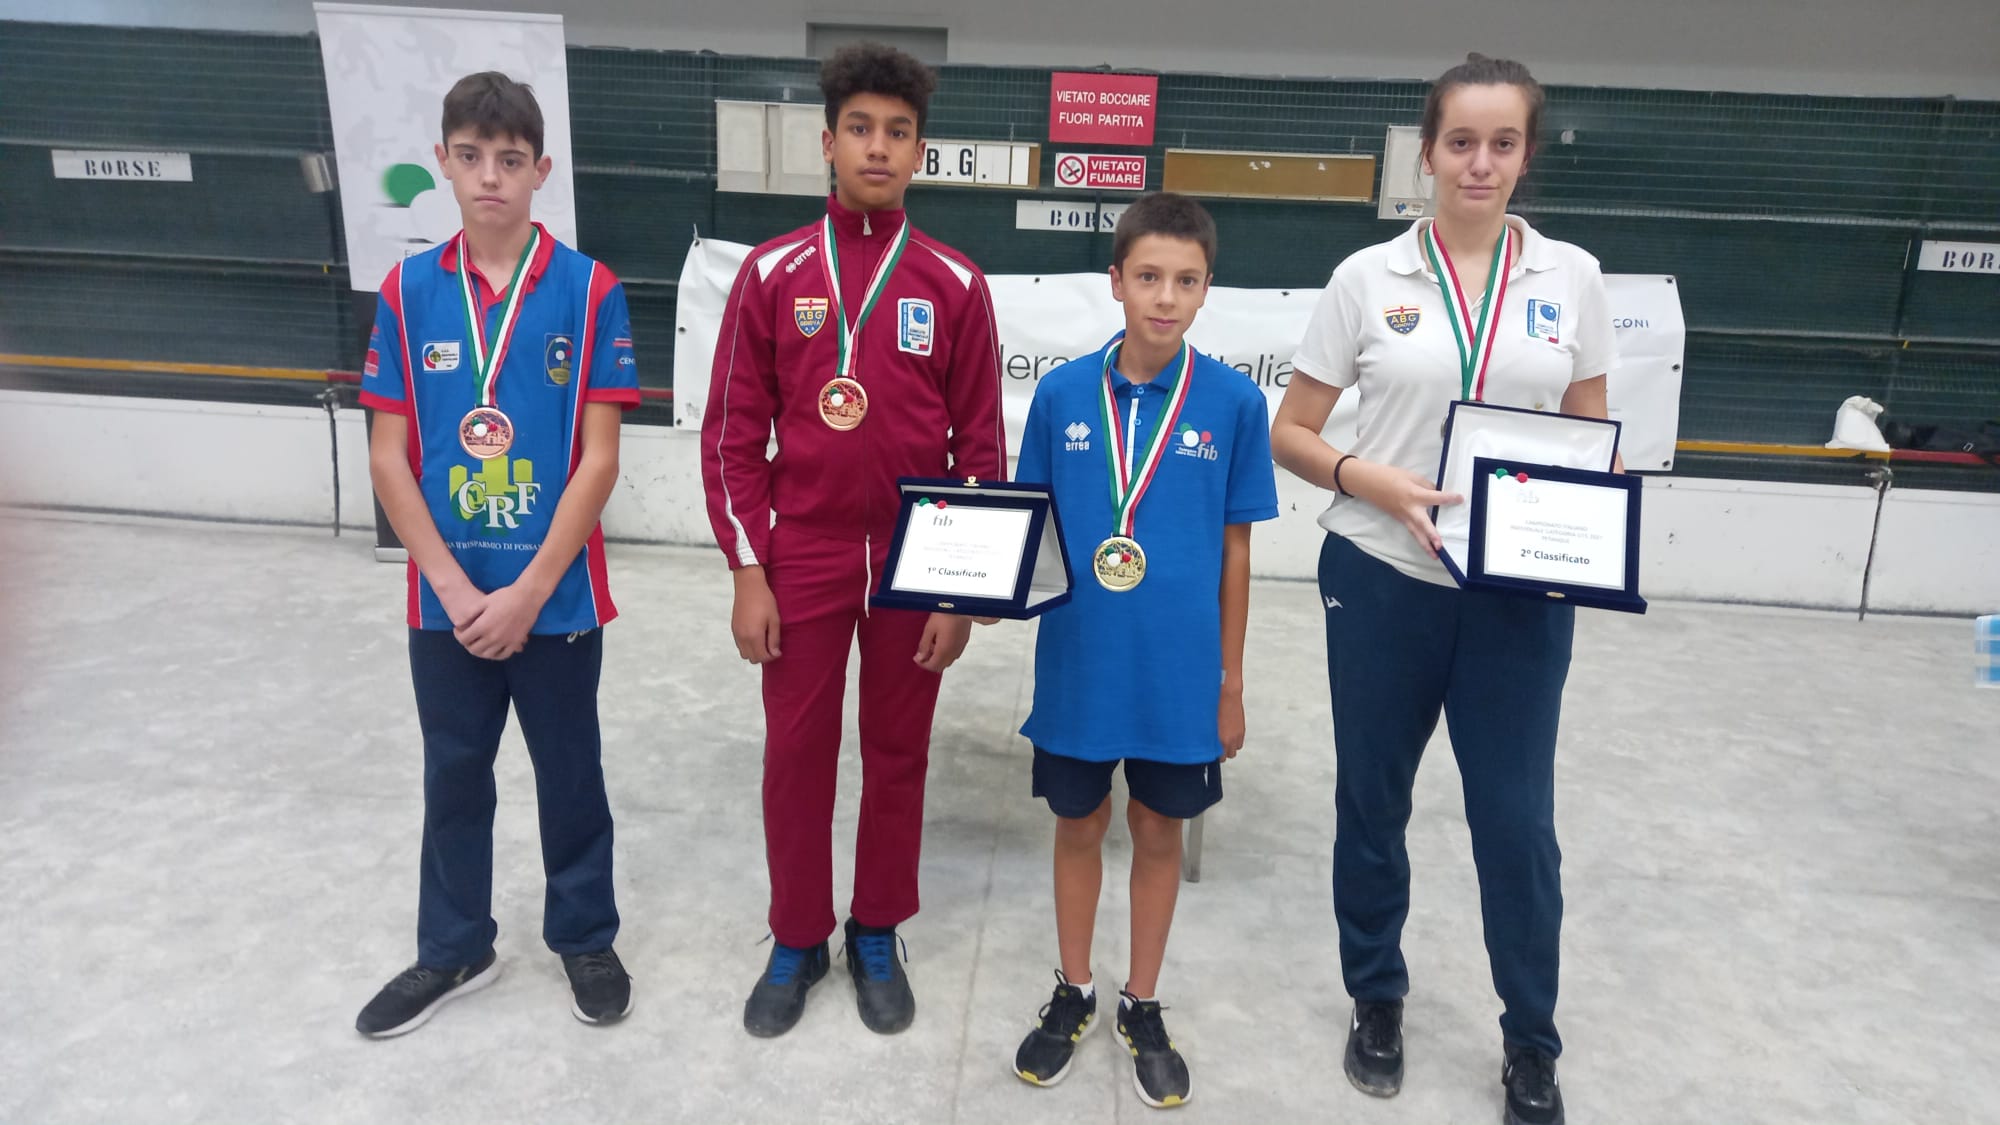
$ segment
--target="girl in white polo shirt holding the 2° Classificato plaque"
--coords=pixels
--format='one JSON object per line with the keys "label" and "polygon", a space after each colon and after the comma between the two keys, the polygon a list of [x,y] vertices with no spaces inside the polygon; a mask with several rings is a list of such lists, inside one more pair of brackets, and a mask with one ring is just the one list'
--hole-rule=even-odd
{"label": "girl in white polo shirt holding the 2\u00b0 Classificato plaque", "polygon": [[[1506,1005],[1506,1121],[1562,1121],[1556,1087],[1556,721],[1576,611],[1460,591],[1438,562],[1432,478],[1454,398],[1604,416],[1614,342],[1598,262],[1506,212],[1534,154],[1542,88],[1518,62],[1472,54],[1424,104],[1436,218],[1340,262],[1272,422],[1284,468],[1334,492],[1320,516],[1320,597],[1334,703],[1334,915],[1354,1017],[1346,1073],[1402,1087],[1400,937],[1410,907],[1404,827],[1442,711],[1494,987]],[[1352,448],[1320,428],[1360,394]]]}

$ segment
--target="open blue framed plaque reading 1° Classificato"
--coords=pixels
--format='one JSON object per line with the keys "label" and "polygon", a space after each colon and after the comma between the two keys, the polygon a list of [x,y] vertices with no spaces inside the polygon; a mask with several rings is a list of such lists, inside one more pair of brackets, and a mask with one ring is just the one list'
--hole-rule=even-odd
{"label": "open blue framed plaque reading 1\u00b0 Classificato", "polygon": [[880,609],[1028,619],[1070,601],[1070,556],[1048,484],[896,480]]}

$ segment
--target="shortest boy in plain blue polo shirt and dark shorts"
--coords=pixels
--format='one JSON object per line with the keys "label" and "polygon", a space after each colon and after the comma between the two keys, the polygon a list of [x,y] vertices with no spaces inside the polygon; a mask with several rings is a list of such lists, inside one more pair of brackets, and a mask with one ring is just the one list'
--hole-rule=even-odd
{"label": "shortest boy in plain blue polo shirt and dark shorts", "polygon": [[1264,392],[1196,354],[1216,224],[1186,196],[1134,202],[1112,234],[1126,328],[1034,390],[1016,480],[1048,482],[1070,536],[1072,601],[1034,647],[1034,795],[1056,813],[1062,969],[1014,1073],[1054,1085],[1096,1025],[1090,935],[1112,771],[1132,827],[1132,965],[1118,1033],[1152,1107],[1192,1095],[1154,997],[1180,891],[1180,823],[1222,799],[1244,743],[1250,522],[1278,516]]}

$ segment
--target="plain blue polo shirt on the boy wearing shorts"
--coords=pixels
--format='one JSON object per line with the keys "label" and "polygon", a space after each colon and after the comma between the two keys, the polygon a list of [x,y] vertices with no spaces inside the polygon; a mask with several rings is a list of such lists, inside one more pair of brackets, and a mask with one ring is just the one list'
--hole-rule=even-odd
{"label": "plain blue polo shirt on the boy wearing shorts", "polygon": [[[1100,394],[1104,352],[1122,336],[1042,376],[1020,438],[1014,478],[1054,488],[1076,579],[1068,605],[1042,615],[1034,709],[1020,733],[1084,761],[1212,763],[1222,757],[1222,528],[1278,518],[1270,416],[1248,376],[1196,352],[1188,400],[1132,522],[1146,579],[1106,591],[1090,569],[1116,530]],[[1176,378],[1172,362],[1150,382],[1114,368],[1118,424],[1132,432],[1136,414],[1144,442]]]}

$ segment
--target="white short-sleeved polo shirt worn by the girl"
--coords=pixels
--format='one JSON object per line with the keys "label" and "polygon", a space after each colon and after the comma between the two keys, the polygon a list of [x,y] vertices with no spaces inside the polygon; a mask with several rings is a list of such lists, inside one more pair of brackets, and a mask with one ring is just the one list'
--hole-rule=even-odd
{"label": "white short-sleeved polo shirt worn by the girl", "polygon": [[[1292,366],[1360,394],[1360,436],[1346,452],[1436,480],[1444,414],[1460,396],[1460,366],[1438,278],[1418,242],[1428,222],[1420,218],[1400,236],[1340,262]],[[1572,382],[1608,372],[1618,356],[1604,274],[1578,246],[1542,238],[1518,216],[1506,222],[1520,238],[1520,256],[1508,272],[1486,402],[1560,410]],[[1484,296],[1466,296],[1476,300],[1476,320]],[[1412,579],[1454,585],[1402,522],[1368,500],[1336,494],[1320,526]]]}

